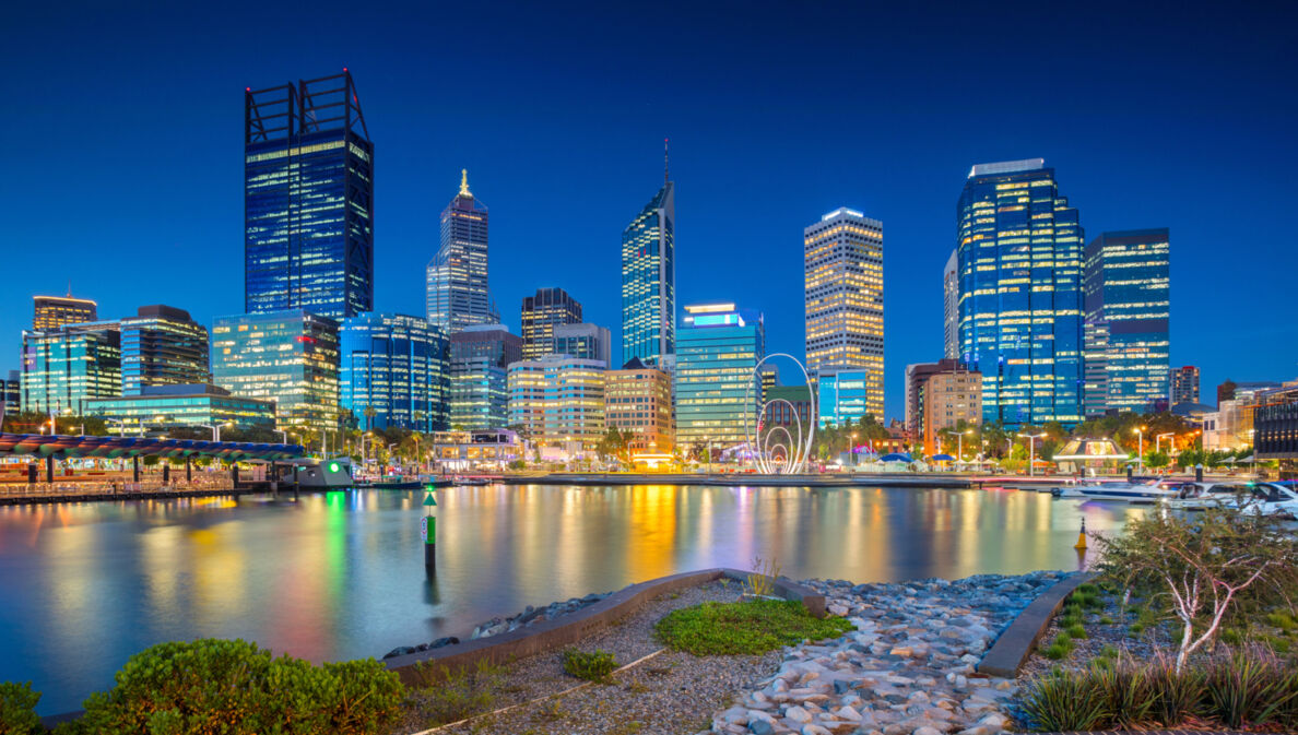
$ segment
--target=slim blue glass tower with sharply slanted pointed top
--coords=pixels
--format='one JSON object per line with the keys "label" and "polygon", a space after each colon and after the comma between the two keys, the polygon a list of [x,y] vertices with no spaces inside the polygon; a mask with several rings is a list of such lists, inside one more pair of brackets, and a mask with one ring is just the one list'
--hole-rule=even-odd
{"label": "slim blue glass tower with sharply slanted pointed top", "polygon": [[622,362],[676,351],[676,184],[663,183],[622,231]]}

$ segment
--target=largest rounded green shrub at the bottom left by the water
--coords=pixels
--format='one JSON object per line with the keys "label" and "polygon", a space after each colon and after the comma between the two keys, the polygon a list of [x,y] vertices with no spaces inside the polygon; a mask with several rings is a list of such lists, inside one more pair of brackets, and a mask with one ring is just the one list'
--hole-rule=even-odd
{"label": "largest rounded green shrub at the bottom left by the water", "polygon": [[361,735],[383,731],[405,697],[378,661],[317,667],[244,640],[162,643],[132,656],[116,682],[86,700],[84,731]]}

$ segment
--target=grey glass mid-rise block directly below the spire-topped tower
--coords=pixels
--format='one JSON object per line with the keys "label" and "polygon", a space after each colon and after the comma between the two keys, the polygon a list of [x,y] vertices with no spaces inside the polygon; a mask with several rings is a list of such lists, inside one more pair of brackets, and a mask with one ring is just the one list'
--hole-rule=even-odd
{"label": "grey glass mid-rise block directly below the spire-topped tower", "polygon": [[523,358],[523,339],[502,325],[450,335],[450,427],[466,431],[509,423],[506,369]]}

